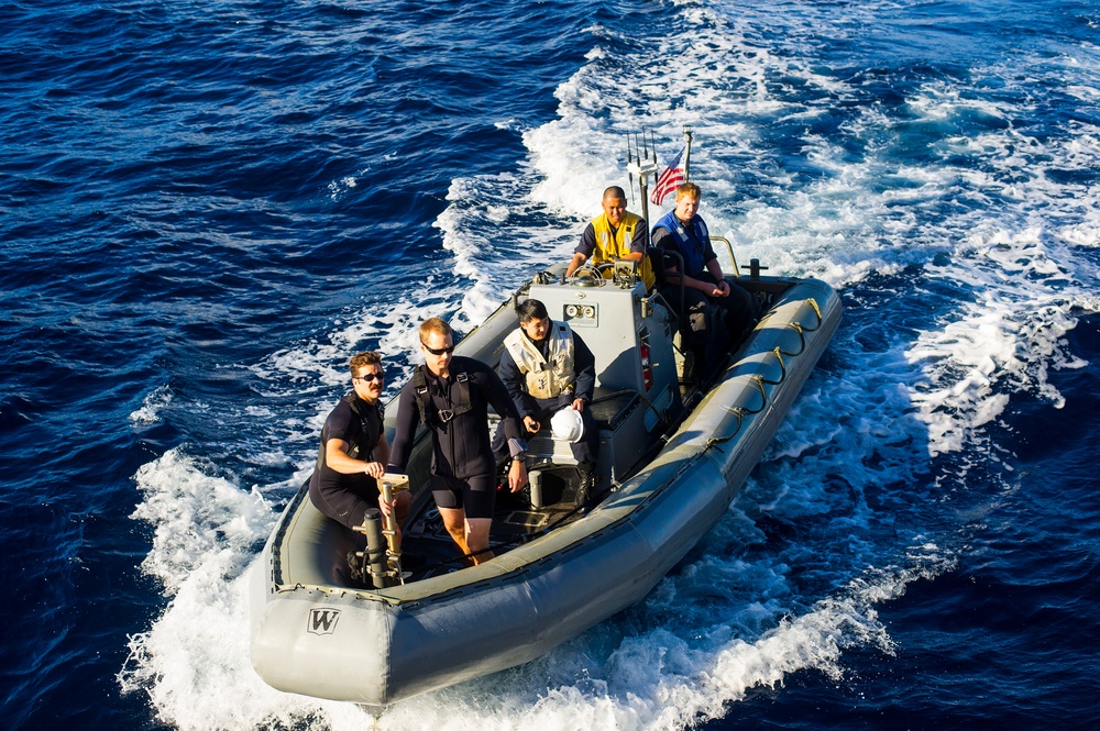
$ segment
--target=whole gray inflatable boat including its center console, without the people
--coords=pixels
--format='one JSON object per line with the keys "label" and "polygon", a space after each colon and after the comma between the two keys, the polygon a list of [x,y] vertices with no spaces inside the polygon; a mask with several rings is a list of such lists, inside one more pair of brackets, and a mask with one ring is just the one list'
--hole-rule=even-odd
{"label": "whole gray inflatable boat including its center console, without the people", "polygon": [[[540,434],[528,452],[531,487],[501,494],[496,557],[463,567],[425,489],[431,447],[421,429],[403,549],[424,565],[406,567],[395,586],[367,588],[348,569],[361,538],[320,514],[302,488],[252,579],[261,677],[285,691],[385,706],[526,663],[642,599],[725,513],[840,321],[839,298],[822,281],[738,283],[762,317],[706,384],[683,378],[672,310],[631,272],[566,281],[556,269],[528,283],[514,300],[541,300],[596,357],[594,505],[585,512],[573,502],[581,476],[569,445]],[[517,326],[513,304],[457,352],[495,366]]]}

